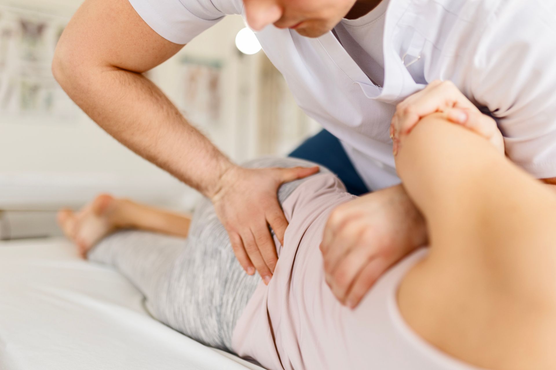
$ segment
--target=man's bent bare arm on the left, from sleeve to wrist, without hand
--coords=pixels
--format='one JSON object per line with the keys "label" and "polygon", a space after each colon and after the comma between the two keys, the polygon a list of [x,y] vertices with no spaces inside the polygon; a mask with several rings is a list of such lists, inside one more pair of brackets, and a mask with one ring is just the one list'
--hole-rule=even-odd
{"label": "man's bent bare arm on the left, from sleeve to wrist, without hand", "polygon": [[154,32],[127,0],[87,0],[63,32],[52,68],[68,95],[108,133],[211,195],[232,164],[141,75],[182,47]]}

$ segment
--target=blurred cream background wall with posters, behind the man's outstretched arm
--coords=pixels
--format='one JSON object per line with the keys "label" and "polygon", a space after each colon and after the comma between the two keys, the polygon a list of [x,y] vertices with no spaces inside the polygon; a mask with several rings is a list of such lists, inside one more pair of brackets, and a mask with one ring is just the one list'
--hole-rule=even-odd
{"label": "blurred cream background wall with posters, behind the man's outstretched arm", "polygon": [[[80,4],[0,0],[0,239],[57,234],[55,210],[102,191],[176,210],[198,199],[106,134],[53,79],[54,47]],[[147,73],[239,162],[285,155],[319,129],[262,51],[236,47],[244,27],[241,17],[226,17]]]}

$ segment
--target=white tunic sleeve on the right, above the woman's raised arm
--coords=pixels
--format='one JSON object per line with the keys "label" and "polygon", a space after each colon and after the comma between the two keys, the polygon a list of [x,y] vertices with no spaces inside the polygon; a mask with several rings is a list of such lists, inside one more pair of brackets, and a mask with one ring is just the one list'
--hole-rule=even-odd
{"label": "white tunic sleeve on the right, above the woman's raised arm", "polygon": [[502,4],[475,50],[472,93],[499,119],[510,159],[539,179],[553,178],[556,6],[544,0]]}

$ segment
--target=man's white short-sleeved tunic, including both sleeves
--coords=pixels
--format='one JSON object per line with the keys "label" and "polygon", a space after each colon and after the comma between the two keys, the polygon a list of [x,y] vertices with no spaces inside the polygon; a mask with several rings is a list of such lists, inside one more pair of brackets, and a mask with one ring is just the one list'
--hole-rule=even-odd
{"label": "man's white short-sleeved tunic, including both sleeves", "polygon": [[[242,0],[130,2],[180,44],[243,11]],[[341,140],[370,189],[399,183],[389,138],[395,104],[435,79],[452,80],[492,112],[515,163],[537,178],[556,176],[554,1],[391,0],[383,35],[378,87],[332,32],[306,38],[268,26],[257,33],[297,104]]]}

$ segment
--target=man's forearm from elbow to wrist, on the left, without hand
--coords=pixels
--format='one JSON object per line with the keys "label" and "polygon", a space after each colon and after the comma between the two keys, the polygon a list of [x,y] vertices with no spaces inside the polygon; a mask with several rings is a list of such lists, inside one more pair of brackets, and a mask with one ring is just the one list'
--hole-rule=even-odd
{"label": "man's forearm from elbow to wrist, on the left, without hand", "polygon": [[58,82],[98,125],[143,158],[207,196],[233,164],[155,84],[115,67],[53,68]]}

